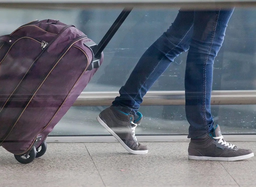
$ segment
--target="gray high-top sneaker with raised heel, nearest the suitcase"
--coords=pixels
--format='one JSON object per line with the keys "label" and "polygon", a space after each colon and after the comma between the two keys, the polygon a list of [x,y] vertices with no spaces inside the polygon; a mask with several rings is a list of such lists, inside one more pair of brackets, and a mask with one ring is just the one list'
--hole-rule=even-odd
{"label": "gray high-top sneaker with raised heel, nearest the suitcase", "polygon": [[98,115],[97,120],[127,151],[132,154],[147,154],[147,146],[137,142],[135,137],[135,128],[142,120],[140,112],[134,119],[133,115],[125,114],[110,106]]}

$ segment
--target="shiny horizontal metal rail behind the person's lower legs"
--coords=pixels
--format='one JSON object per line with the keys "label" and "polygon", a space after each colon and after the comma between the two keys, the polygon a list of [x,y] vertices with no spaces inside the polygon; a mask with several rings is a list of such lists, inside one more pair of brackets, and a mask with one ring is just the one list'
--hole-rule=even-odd
{"label": "shiny horizontal metal rail behind the person's lower legs", "polygon": [[[119,92],[82,92],[73,106],[111,105]],[[141,105],[184,105],[185,91],[148,91]],[[256,90],[212,91],[211,104],[256,104]]]}

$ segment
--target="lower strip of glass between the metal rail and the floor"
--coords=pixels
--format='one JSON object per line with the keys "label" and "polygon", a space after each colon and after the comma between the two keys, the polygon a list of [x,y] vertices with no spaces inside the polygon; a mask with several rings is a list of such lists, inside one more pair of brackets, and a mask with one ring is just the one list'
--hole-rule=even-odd
{"label": "lower strip of glass between the metal rail and the floor", "polygon": [[[96,120],[106,106],[71,107],[50,135],[107,135],[109,134]],[[225,133],[256,133],[255,105],[213,105],[211,107],[215,124]],[[185,106],[141,106],[143,114],[136,134],[187,134]]]}

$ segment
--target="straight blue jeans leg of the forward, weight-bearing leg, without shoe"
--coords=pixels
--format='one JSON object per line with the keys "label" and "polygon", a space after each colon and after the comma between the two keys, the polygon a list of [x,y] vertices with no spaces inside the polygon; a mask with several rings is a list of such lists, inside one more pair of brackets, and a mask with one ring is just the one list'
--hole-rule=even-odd
{"label": "straight blue jeans leg of the forward, weight-bearing leg, without shoe", "polygon": [[188,138],[200,137],[213,130],[210,110],[212,69],[223,43],[230,10],[195,11],[193,36],[185,72]]}

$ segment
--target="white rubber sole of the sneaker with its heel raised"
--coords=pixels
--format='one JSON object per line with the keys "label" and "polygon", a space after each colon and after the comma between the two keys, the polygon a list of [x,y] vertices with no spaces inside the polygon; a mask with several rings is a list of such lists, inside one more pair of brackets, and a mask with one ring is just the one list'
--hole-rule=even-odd
{"label": "white rubber sole of the sneaker with its heel raised", "polygon": [[148,150],[132,150],[131,148],[129,148],[122,140],[121,138],[114,132],[111,130],[111,128],[108,127],[108,125],[106,123],[104,123],[104,121],[102,121],[102,119],[100,119],[100,116],[97,116],[97,121],[110,133],[112,134],[117,140],[118,142],[120,142],[120,144],[130,153],[135,154],[135,155],[143,155],[143,154],[147,154]]}

